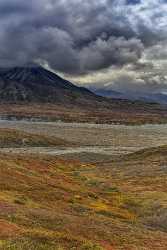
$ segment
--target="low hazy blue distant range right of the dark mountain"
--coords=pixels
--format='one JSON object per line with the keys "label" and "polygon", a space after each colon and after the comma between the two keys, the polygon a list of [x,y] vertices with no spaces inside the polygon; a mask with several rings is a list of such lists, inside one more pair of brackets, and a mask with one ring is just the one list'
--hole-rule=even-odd
{"label": "low hazy blue distant range right of the dark mountain", "polygon": [[112,99],[123,99],[131,101],[155,102],[160,104],[167,104],[167,95],[163,93],[149,94],[149,93],[134,93],[134,92],[118,92],[112,89],[94,89],[89,88],[96,95],[100,95]]}

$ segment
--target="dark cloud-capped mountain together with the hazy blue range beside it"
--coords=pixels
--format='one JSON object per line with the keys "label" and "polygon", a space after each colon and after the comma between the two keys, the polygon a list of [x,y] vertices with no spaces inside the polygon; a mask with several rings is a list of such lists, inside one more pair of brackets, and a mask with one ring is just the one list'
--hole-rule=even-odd
{"label": "dark cloud-capped mountain together with the hazy blue range beside it", "polygon": [[39,65],[0,68],[0,103],[77,104],[98,108],[110,106],[113,99],[167,104],[167,95],[161,93],[139,95],[78,87]]}

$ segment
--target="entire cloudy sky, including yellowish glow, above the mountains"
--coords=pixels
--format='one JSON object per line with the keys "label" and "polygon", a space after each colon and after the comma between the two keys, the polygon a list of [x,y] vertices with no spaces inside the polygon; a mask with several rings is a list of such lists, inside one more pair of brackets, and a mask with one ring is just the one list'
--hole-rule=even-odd
{"label": "entire cloudy sky, including yellowish glow, above the mountains", "polygon": [[79,85],[167,93],[167,0],[0,0],[0,66],[29,62]]}

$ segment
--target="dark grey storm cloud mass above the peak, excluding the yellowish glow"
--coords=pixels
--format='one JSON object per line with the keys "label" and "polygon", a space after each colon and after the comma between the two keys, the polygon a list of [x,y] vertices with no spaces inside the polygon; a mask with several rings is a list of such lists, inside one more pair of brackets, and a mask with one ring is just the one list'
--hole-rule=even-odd
{"label": "dark grey storm cloud mass above the peak, excluding the yellowish glow", "polygon": [[148,2],[0,0],[0,65],[38,61],[79,75],[137,64],[145,48],[166,39],[150,19],[165,21],[158,11],[165,3]]}

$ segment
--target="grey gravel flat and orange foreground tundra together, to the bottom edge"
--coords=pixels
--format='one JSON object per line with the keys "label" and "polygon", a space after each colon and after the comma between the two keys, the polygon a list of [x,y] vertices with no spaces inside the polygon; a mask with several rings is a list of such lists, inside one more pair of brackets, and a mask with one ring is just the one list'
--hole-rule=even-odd
{"label": "grey gravel flat and orange foreground tundra together, to the bottom edge", "polygon": [[167,125],[0,121],[0,249],[166,250],[166,141]]}

